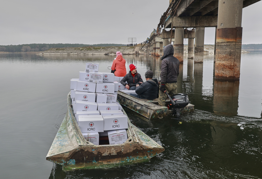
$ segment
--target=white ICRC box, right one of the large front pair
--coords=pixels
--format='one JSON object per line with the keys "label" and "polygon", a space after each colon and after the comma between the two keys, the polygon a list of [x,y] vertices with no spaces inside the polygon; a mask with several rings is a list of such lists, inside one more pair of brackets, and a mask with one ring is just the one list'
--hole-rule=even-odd
{"label": "white ICRC box, right one of the large front pair", "polygon": [[104,130],[105,131],[128,128],[128,122],[127,122],[128,118],[124,114],[103,116],[103,118],[104,118]]}

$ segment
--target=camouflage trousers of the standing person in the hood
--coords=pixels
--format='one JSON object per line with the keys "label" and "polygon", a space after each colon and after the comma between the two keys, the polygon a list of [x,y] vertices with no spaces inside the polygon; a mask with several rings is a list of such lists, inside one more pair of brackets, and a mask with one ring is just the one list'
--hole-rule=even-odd
{"label": "camouflage trousers of the standing person in the hood", "polygon": [[[159,85],[161,87],[161,84]],[[172,96],[173,94],[177,94],[177,83],[166,83],[165,84],[167,93]],[[166,93],[163,93],[159,90],[159,97],[158,97],[158,105],[165,106],[166,104]]]}

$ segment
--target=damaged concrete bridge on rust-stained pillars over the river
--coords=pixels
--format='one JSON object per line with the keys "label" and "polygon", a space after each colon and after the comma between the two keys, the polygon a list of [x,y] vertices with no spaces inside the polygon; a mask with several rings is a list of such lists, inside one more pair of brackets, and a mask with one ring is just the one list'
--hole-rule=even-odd
{"label": "damaged concrete bridge on rust-stained pillars over the river", "polygon": [[148,52],[160,56],[163,48],[173,42],[174,56],[183,63],[184,38],[188,38],[188,58],[203,63],[205,27],[216,27],[215,78],[238,80],[242,9],[258,1],[261,0],[170,0],[157,30],[150,35]]}

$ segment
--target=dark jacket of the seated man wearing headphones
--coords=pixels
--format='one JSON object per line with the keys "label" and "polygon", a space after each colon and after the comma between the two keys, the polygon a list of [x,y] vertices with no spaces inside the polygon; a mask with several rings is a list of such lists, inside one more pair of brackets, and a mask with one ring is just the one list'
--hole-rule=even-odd
{"label": "dark jacket of the seated man wearing headphones", "polygon": [[141,96],[142,99],[156,99],[158,94],[158,81],[156,78],[143,82],[137,88],[135,93]]}

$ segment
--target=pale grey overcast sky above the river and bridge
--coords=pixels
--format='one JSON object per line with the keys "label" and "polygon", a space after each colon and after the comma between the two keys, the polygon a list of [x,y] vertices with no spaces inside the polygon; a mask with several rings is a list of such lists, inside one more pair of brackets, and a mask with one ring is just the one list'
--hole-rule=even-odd
{"label": "pale grey overcast sky above the river and bridge", "polygon": [[[160,3],[161,2],[161,3]],[[29,43],[143,42],[168,8],[169,0],[1,1],[0,45]],[[243,9],[242,43],[262,43],[262,1]],[[205,29],[214,44],[215,28]]]}

